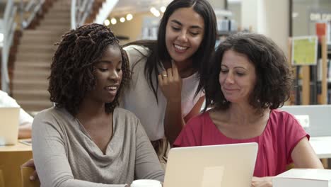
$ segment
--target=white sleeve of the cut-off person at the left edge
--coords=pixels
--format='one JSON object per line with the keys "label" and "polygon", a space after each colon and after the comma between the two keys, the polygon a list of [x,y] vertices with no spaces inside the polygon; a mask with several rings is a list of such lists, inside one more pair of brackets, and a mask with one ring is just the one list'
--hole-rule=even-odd
{"label": "white sleeve of the cut-off person at the left edge", "polygon": [[[4,91],[0,90],[0,107],[20,107],[18,103],[15,101],[15,99],[8,96],[8,94]],[[19,119],[20,125],[23,125],[24,123],[33,123],[33,117],[26,113],[22,108],[20,109],[20,119]]]}

